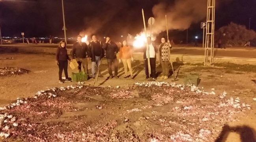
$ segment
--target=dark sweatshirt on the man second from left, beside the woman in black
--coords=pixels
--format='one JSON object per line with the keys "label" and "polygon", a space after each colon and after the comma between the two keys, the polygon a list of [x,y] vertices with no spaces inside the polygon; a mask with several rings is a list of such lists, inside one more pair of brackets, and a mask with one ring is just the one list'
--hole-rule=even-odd
{"label": "dark sweatshirt on the man second from left, beside the woman in black", "polygon": [[82,46],[75,42],[73,44],[73,52],[72,52],[72,58],[86,58],[86,52],[88,51],[88,46],[86,43],[82,42]]}

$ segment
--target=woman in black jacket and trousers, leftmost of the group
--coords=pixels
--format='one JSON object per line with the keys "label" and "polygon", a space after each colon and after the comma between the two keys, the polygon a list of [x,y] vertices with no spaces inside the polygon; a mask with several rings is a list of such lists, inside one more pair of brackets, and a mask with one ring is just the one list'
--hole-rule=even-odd
{"label": "woman in black jacket and trousers, leftmost of the group", "polygon": [[[59,83],[71,82],[71,78],[67,75],[67,60],[71,60],[67,55],[66,42],[60,41],[60,44],[56,52],[56,63],[59,66]],[[62,79],[62,71],[64,69],[64,74],[66,79]]]}

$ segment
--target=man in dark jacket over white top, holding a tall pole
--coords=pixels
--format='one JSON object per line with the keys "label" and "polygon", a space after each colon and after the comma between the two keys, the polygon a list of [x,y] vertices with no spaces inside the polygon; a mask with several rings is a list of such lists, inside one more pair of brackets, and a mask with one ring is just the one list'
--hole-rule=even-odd
{"label": "man in dark jacket over white top, holding a tall pole", "polygon": [[[157,52],[157,47],[152,44],[151,37],[147,38],[148,40],[148,46],[149,46],[149,63],[150,63],[150,68],[151,68],[151,77],[153,80],[156,79],[156,74],[155,74],[155,62],[156,62],[156,52]],[[146,79],[149,78],[149,71],[148,71],[148,52],[147,52],[147,47],[144,48],[144,65],[145,65],[145,74],[146,74]]]}

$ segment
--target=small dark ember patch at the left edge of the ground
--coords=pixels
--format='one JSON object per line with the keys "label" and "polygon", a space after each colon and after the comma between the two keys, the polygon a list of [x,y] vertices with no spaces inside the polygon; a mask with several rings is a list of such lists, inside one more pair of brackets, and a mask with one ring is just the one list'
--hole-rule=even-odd
{"label": "small dark ember patch at the left edge of the ground", "polygon": [[22,68],[14,68],[14,67],[4,67],[0,68],[0,76],[13,76],[20,74],[28,74],[29,70],[25,70]]}

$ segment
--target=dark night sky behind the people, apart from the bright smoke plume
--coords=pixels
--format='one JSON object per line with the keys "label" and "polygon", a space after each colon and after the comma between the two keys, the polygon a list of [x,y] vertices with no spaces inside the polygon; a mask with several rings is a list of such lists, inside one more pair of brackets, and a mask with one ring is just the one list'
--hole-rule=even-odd
{"label": "dark night sky behind the people, apart from the bright smoke plume", "polygon": [[[229,1],[216,7],[215,29],[230,22],[248,27],[251,18],[251,29],[256,30],[256,0]],[[153,16],[152,7],[160,2],[172,5],[175,0],[64,0],[67,37],[90,28],[94,29],[90,34],[101,36],[135,35],[143,28],[141,9],[148,19]],[[2,36],[20,37],[24,32],[25,37],[64,37],[61,4],[61,0],[0,0]],[[182,37],[186,31],[172,33]],[[189,35],[200,34],[200,24],[192,24]]]}

